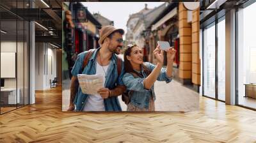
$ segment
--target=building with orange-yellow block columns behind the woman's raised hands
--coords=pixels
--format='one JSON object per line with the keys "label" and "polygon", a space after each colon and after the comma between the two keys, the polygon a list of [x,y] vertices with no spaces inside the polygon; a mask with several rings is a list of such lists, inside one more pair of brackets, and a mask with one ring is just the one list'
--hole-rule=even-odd
{"label": "building with orange-yellow block columns behind the woman's raised hands", "polygon": [[[199,8],[189,11],[183,3],[166,4],[164,10],[144,31],[149,45],[148,61],[156,63],[153,51],[157,41],[168,41],[177,50],[173,64],[173,78],[199,92]],[[188,20],[190,19],[190,20]],[[166,65],[164,54],[164,65]]]}

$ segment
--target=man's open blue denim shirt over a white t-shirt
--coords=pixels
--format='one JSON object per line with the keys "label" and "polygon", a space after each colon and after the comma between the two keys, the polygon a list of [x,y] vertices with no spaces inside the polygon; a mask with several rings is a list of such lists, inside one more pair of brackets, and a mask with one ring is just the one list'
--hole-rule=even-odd
{"label": "man's open blue denim shirt over a white t-shirt", "polygon": [[[97,63],[97,52],[99,52],[99,49],[94,50],[92,57],[89,59],[87,66],[82,69],[83,62],[84,62],[84,56],[88,53],[88,51],[82,52],[78,54],[76,63],[74,64],[74,67],[72,69],[72,75],[77,76],[77,74],[87,74],[87,75],[95,75],[96,73],[96,63]],[[106,81],[104,87],[108,89],[113,89],[116,87],[116,85],[123,86],[124,83],[122,82],[122,77],[124,76],[124,62],[122,63],[122,72],[120,73],[120,76],[118,77],[117,72],[117,65],[116,65],[116,54],[113,54],[111,57],[111,61],[109,62],[108,72],[106,75]],[[82,72],[83,70],[83,72]],[[76,94],[76,98],[74,100],[74,104],[76,105],[77,111],[82,111],[84,108],[84,105],[86,104],[86,99],[89,95],[83,94],[81,91],[81,87],[79,86],[79,89]],[[104,99],[104,105],[106,111],[122,111],[118,97],[113,96],[107,99]]]}

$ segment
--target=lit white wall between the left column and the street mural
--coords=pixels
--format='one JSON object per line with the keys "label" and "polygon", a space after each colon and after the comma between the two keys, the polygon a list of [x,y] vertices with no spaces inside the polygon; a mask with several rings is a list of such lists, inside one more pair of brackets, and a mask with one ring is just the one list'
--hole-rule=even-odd
{"label": "lit white wall between the left column and the street mural", "polygon": [[56,49],[53,48],[49,43],[36,43],[36,90],[51,88],[50,79],[53,80],[57,75]]}

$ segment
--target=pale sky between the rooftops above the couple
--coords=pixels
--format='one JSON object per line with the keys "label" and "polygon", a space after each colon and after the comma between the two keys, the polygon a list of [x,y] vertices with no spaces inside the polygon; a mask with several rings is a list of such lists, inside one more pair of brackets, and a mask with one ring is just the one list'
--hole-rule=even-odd
{"label": "pale sky between the rooftops above the couple", "polygon": [[103,17],[113,20],[114,26],[124,29],[126,33],[129,15],[145,8],[146,3],[148,8],[155,8],[164,2],[83,2],[83,5],[92,14],[99,12]]}

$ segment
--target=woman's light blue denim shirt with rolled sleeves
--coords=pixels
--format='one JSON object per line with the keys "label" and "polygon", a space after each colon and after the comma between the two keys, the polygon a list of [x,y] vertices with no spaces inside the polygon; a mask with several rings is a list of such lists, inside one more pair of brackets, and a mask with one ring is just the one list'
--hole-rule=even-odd
{"label": "woman's light blue denim shirt with rolled sleeves", "polygon": [[[152,63],[144,63],[145,66],[147,66],[148,70],[152,72],[154,68],[156,67]],[[127,90],[133,91],[131,96],[131,104],[139,107],[141,109],[145,108],[148,109],[148,104],[150,100],[150,96],[153,96],[153,100],[156,100],[156,95],[154,91],[154,85],[151,87],[151,89],[145,89],[143,81],[147,77],[146,73],[143,71],[143,68],[141,66],[141,73],[143,75],[142,77],[136,77],[131,73],[125,73],[123,77],[124,85],[127,87]],[[166,77],[166,68],[161,69],[161,73],[157,77],[157,80],[159,81],[166,81],[166,83],[169,83],[172,81],[172,77]]]}

